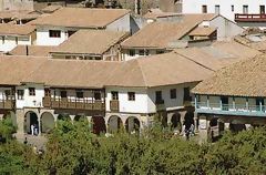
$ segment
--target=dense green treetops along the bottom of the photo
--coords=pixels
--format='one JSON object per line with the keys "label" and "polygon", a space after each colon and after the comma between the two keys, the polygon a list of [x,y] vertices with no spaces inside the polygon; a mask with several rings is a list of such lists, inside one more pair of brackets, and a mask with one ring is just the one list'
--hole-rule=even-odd
{"label": "dense green treetops along the bottom of the photo", "polygon": [[60,121],[43,156],[14,141],[0,145],[0,174],[49,174],[52,168],[60,175],[265,174],[265,128],[254,128],[200,145],[170,135],[156,122],[142,136],[105,137],[92,134],[85,121]]}

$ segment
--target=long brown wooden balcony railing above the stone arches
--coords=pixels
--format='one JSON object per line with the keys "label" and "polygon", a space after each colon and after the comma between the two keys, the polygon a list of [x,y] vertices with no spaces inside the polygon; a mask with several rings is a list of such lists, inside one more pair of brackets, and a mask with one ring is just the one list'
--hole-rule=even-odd
{"label": "long brown wooden balcony railing above the stone arches", "polygon": [[49,109],[66,110],[90,110],[104,111],[105,105],[101,100],[66,99],[66,97],[43,97],[42,104]]}

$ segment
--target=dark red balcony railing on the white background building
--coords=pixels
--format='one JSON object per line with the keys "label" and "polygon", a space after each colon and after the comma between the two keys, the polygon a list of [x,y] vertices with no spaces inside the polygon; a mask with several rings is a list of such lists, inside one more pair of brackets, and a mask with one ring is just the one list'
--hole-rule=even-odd
{"label": "dark red balcony railing on the white background building", "polygon": [[244,14],[244,13],[236,13],[235,14],[236,22],[265,22],[266,14]]}

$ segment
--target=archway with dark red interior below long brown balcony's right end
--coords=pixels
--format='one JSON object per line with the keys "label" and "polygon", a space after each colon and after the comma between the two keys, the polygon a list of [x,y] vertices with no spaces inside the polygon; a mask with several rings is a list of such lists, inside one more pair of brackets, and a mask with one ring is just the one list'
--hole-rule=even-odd
{"label": "archway with dark red interior below long brown balcony's right end", "polygon": [[101,133],[106,133],[106,125],[103,116],[92,116],[92,133],[100,135]]}

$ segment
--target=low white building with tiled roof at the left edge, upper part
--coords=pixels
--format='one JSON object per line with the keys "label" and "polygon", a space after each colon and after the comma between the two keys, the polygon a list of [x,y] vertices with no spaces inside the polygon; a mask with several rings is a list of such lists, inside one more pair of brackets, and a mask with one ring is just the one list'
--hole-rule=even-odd
{"label": "low white building with tiled roof at the left edge, upper part", "polygon": [[0,24],[0,52],[9,52],[17,45],[31,45],[35,41],[35,28],[29,24]]}

